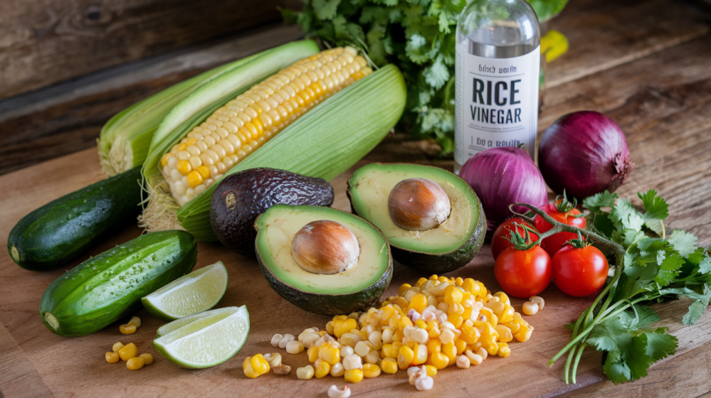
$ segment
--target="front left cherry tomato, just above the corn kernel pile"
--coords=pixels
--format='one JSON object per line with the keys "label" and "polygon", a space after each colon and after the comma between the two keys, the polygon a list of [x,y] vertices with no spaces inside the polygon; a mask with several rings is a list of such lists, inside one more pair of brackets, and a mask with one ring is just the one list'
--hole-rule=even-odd
{"label": "front left cherry tomato, just above the corn kernel pile", "polygon": [[525,299],[545,290],[550,283],[550,272],[550,257],[539,246],[528,250],[506,248],[493,266],[503,291]]}

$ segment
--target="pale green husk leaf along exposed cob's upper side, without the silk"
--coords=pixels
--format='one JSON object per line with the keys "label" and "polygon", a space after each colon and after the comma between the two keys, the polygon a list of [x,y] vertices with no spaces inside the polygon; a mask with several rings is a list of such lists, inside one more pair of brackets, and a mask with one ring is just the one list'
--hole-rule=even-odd
{"label": "pale green husk leaf along exposed cob's upper side, without the silk", "polygon": [[197,115],[204,115],[206,108],[214,106],[219,108],[262,79],[318,52],[319,47],[313,40],[281,45],[221,74],[183,99],[163,119],[153,136],[143,168],[144,177],[149,185],[156,187],[163,182],[160,160],[173,145],[185,137],[185,133],[179,130],[181,126],[185,126],[186,121]]}

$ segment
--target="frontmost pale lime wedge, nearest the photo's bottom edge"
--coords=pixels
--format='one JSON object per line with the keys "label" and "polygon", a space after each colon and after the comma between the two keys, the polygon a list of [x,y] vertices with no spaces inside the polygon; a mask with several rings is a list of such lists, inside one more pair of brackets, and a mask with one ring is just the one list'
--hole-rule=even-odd
{"label": "frontmost pale lime wedge, nearest the photo's bottom edge", "polygon": [[[173,363],[191,368],[215,366],[232,358],[250,331],[247,306],[228,306],[201,315],[156,338],[153,345],[158,352]],[[182,321],[178,319],[171,324]]]}

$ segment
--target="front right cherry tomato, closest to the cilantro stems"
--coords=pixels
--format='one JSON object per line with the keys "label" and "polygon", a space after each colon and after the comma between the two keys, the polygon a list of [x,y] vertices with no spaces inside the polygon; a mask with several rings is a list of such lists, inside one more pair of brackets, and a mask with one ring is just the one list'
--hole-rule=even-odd
{"label": "front right cherry tomato, closest to the cilantro stems", "polygon": [[574,297],[593,294],[607,279],[607,259],[593,246],[563,246],[553,256],[553,283],[563,293]]}

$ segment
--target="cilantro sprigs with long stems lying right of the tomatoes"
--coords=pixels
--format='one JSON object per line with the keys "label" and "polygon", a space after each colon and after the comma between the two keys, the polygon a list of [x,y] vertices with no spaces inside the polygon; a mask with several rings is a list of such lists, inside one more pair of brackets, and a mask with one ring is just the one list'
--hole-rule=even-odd
{"label": "cilantro sprigs with long stems lying right of the tomatoes", "polygon": [[540,238],[561,231],[579,232],[616,262],[614,275],[592,306],[567,325],[573,331],[572,340],[550,361],[552,365],[568,354],[565,382],[570,373],[575,382],[577,365],[587,346],[604,352],[603,370],[615,384],[646,376],[651,364],[677,348],[677,339],[667,334],[666,328],[653,326],[659,316],[648,305],[692,299],[682,319],[690,325],[700,319],[711,299],[708,249],[697,247],[697,238],[685,231],[666,236],[663,220],[668,207],[653,189],[638,197],[643,212],[607,191],[584,199],[589,230],[558,223],[535,206],[524,205],[554,225]]}

